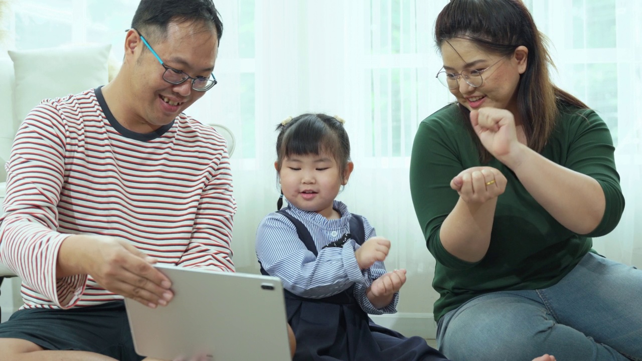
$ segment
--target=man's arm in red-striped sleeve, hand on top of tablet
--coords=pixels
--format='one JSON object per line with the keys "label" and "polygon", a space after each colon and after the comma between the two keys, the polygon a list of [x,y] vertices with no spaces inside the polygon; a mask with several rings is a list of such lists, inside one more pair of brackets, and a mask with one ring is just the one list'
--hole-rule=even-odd
{"label": "man's arm in red-striped sleeve, hand on top of tablet", "polygon": [[[67,123],[53,103],[36,107],[20,128],[7,163],[7,197],[0,220],[0,261],[37,292],[30,299],[74,306],[87,275],[115,294],[155,306],[171,299],[169,279],[155,260],[119,238],[57,231],[65,187]],[[169,292],[169,294],[168,294]]]}

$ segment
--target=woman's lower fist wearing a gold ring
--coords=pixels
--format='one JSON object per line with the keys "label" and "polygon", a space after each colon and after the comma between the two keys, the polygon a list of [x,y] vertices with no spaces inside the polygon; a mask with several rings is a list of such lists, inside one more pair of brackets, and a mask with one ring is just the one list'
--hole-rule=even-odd
{"label": "woman's lower fist wearing a gold ring", "polygon": [[450,182],[466,203],[483,203],[506,190],[507,180],[496,168],[473,167],[462,171]]}

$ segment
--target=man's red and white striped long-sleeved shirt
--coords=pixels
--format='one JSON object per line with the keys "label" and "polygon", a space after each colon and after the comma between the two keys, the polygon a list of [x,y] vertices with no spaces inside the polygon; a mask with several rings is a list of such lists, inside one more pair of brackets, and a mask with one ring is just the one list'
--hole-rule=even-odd
{"label": "man's red and white striped long-sleeved shirt", "polygon": [[114,119],[100,88],[46,100],[22,123],[6,170],[0,261],[22,277],[24,308],[123,298],[91,276],[56,279],[69,234],[116,236],[162,263],[234,272],[225,139],[184,114],[137,134]]}

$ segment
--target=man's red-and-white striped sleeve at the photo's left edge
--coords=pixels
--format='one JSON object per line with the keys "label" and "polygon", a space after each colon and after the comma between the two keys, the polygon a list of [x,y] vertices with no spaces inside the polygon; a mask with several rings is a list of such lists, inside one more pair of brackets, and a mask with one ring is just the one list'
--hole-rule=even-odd
{"label": "man's red-and-white striped sleeve at the photo's left edge", "polygon": [[55,107],[39,105],[22,123],[6,164],[0,261],[25,285],[61,308],[76,304],[87,276],[56,280],[60,234],[56,204],[64,179],[66,129]]}

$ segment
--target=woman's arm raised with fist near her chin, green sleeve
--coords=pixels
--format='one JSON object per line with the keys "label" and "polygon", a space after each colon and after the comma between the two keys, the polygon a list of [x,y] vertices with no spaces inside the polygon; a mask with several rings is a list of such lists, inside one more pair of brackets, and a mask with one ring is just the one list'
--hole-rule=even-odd
{"label": "woman's arm raised with fist near her chin, green sleeve", "polygon": [[[586,115],[575,115],[582,117],[577,128],[567,130],[568,144],[563,146],[568,146],[568,155],[560,165],[517,141],[514,118],[508,110],[471,112],[473,127],[486,149],[516,174],[555,220],[578,234],[592,233],[605,218],[605,187],[612,199],[609,212],[621,214],[623,210],[611,134],[594,112],[587,111]],[[571,129],[568,124],[564,126]],[[619,220],[619,216],[616,218]],[[608,223],[614,227],[617,220]],[[610,231],[612,227],[607,228]]]}

